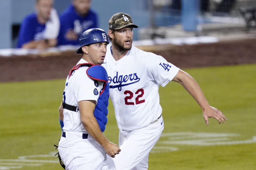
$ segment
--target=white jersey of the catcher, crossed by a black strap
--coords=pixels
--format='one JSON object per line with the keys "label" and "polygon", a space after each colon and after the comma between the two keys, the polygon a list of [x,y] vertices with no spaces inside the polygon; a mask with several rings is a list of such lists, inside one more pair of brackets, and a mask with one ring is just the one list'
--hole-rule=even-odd
{"label": "white jersey of the catcher, crossed by a black strap", "polygon": [[[81,59],[78,63],[88,63]],[[93,80],[86,74],[89,67],[82,66],[75,70],[70,78],[66,79],[65,90],[63,92],[63,101],[69,105],[78,106],[78,102],[82,100],[97,100],[99,93],[103,88],[103,82]],[[67,109],[63,111],[65,132],[83,132],[86,133],[80,119],[80,112],[73,112]]]}

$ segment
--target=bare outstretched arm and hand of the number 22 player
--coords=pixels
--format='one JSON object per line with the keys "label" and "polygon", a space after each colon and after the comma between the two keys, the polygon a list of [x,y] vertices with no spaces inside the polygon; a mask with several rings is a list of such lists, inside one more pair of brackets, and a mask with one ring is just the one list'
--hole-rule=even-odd
{"label": "bare outstretched arm and hand of the number 22 player", "polygon": [[209,124],[209,117],[218,120],[219,124],[221,124],[221,121],[225,123],[225,120],[227,120],[227,118],[223,115],[221,111],[209,105],[198,83],[188,73],[179,70],[179,72],[172,81],[180,83],[187,90],[187,92],[189,92],[189,94],[194,97],[194,99],[203,110],[203,118],[205,119],[206,125]]}

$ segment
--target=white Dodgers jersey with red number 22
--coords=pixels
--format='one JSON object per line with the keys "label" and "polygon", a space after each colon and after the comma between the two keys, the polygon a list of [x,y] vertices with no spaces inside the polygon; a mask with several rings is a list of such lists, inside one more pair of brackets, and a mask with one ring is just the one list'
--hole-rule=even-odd
{"label": "white Dodgers jersey with red number 22", "polygon": [[108,46],[102,66],[109,76],[109,94],[122,130],[140,129],[157,120],[162,113],[159,84],[164,87],[179,71],[162,56],[135,46],[118,61]]}

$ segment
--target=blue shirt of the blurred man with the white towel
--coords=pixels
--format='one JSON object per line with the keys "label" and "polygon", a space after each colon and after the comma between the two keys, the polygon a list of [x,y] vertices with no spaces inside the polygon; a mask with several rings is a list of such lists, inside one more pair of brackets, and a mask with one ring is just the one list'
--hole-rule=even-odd
{"label": "blue shirt of the blurred man with the white towel", "polygon": [[32,40],[42,40],[44,30],[45,24],[40,24],[37,21],[37,15],[35,13],[26,16],[26,18],[24,18],[22,21],[21,27],[19,29],[19,36],[16,47],[21,48],[23,44]]}

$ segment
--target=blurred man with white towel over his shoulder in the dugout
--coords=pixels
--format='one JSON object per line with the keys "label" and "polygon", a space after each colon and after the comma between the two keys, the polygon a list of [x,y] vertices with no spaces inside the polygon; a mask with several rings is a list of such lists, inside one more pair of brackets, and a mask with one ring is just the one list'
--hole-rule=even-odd
{"label": "blurred man with white towel over his shoulder in the dugout", "polygon": [[60,22],[53,0],[36,0],[35,10],[21,23],[17,48],[46,49],[57,45]]}

